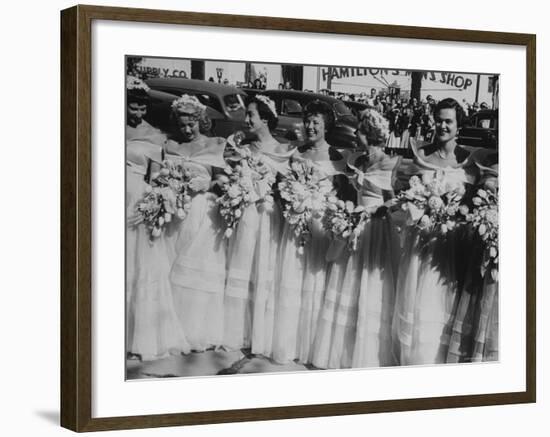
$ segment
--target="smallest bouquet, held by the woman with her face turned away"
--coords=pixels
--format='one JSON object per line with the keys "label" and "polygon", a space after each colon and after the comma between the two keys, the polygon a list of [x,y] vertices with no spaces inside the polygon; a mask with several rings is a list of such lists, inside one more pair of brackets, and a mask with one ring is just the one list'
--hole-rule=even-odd
{"label": "smallest bouquet, held by the woman with her face turned away", "polygon": [[334,238],[345,241],[350,251],[355,251],[369,216],[363,206],[355,206],[353,202],[344,202],[335,196],[329,196],[323,227]]}

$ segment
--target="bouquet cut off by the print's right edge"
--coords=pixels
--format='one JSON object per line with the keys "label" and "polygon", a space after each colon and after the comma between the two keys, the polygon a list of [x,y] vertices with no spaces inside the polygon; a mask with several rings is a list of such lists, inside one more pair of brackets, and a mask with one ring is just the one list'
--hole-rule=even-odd
{"label": "bouquet cut off by the print's right edge", "polygon": [[477,231],[484,244],[481,276],[490,272],[498,280],[498,194],[479,189],[472,199],[472,211],[464,205],[461,214]]}

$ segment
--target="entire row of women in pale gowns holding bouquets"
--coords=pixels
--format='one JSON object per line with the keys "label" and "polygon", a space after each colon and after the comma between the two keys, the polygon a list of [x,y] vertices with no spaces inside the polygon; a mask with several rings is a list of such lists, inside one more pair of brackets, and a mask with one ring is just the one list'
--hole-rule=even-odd
{"label": "entire row of women in pale gowns holding bouquets", "polygon": [[304,108],[296,148],[273,137],[278,115],[261,93],[246,102],[247,132],[229,138],[205,135],[194,96],[172,103],[170,132],[146,121],[148,103],[128,77],[129,358],[247,349],[320,369],[498,359],[487,237],[498,158],[457,144],[458,102],[414,102],[420,118],[430,108],[433,136],[409,139],[412,162],[385,153],[399,121],[377,98],[347,152],[327,143],[334,120],[320,101]]}

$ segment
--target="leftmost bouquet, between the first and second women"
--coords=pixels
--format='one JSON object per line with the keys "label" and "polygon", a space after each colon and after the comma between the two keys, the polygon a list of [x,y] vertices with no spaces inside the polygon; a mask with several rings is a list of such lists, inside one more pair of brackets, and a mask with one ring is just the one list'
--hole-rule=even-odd
{"label": "leftmost bouquet, between the first and second women", "polygon": [[167,223],[175,216],[185,219],[191,206],[190,175],[180,164],[164,161],[160,171],[145,188],[136,204],[134,224],[145,223],[151,240],[162,235]]}

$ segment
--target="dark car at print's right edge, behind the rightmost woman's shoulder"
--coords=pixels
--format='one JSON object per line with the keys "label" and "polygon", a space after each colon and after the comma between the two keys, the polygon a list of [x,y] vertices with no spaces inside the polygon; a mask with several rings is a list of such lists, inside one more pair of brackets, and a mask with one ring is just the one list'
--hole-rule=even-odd
{"label": "dark car at print's right edge, behind the rightmost woman's shoulder", "polygon": [[484,109],[473,114],[460,129],[459,144],[498,149],[498,111]]}

